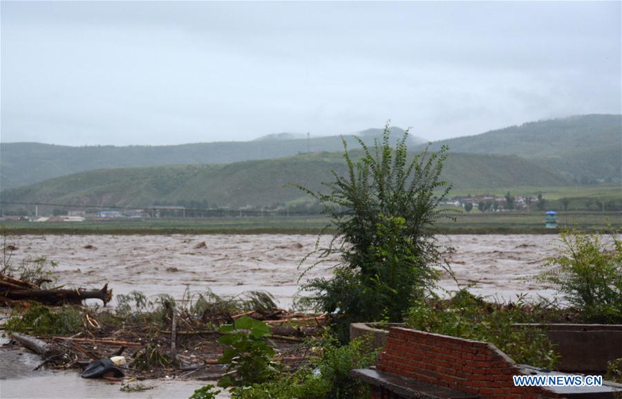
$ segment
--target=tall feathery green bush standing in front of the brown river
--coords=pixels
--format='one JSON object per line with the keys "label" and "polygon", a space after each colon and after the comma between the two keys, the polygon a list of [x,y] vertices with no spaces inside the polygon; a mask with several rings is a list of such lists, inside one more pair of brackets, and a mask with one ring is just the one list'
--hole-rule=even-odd
{"label": "tall feathery green bush standing in front of the brown river", "polygon": [[341,261],[332,279],[302,286],[311,295],[301,306],[334,315],[342,342],[350,322],[402,321],[411,299],[431,290],[439,277],[433,266],[440,254],[429,228],[451,212],[437,207],[449,192],[440,180],[447,149],[411,158],[407,138],[408,132],[390,147],[387,125],[373,149],[359,140],[364,156],[357,162],[344,141],[348,174],[334,173],[332,183],[325,183],[328,194],[299,186],[323,204],[337,230],[330,245],[315,252],[318,263],[335,256]]}

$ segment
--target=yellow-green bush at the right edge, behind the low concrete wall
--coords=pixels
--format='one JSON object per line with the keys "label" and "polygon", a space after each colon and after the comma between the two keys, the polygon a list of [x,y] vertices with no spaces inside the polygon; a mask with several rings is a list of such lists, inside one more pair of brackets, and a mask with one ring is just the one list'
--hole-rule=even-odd
{"label": "yellow-green bush at the right edge, behind the low concrete wall", "polygon": [[563,300],[590,323],[622,322],[622,241],[565,230],[559,254],[539,280],[555,284]]}

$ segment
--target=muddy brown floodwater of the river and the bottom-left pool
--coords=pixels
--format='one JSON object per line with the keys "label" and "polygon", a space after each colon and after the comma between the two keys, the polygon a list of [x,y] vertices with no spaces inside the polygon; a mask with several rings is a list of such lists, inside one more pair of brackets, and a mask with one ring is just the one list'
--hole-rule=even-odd
{"label": "muddy brown floodwater of the river and the bottom-left pool", "polygon": [[[498,299],[518,293],[552,297],[550,287],[531,277],[555,253],[556,235],[439,236],[449,265],[462,286]],[[115,294],[140,290],[147,295],[167,293],[182,297],[187,286],[194,292],[236,295],[266,290],[281,306],[290,306],[301,270],[299,261],[314,249],[314,235],[26,235],[13,240],[12,262],[44,256],[58,263],[59,283],[101,288],[105,282]],[[329,236],[321,237],[326,244]],[[310,265],[312,261],[307,262]],[[318,266],[305,278],[329,276],[330,266]],[[441,285],[457,288],[445,275]],[[156,389],[123,393],[118,384],[83,380],[75,372],[32,371],[38,358],[29,353],[0,352],[1,398],[188,398],[205,382],[149,382]],[[13,356],[14,358],[9,358]]]}

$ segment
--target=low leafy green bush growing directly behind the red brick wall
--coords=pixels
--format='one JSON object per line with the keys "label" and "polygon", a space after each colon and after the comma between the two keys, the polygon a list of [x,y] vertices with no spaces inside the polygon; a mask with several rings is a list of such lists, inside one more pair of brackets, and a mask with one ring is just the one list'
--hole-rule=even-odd
{"label": "low leafy green bush growing directly behind the red brick wall", "polygon": [[516,326],[540,322],[538,308],[516,304],[491,304],[467,290],[460,290],[448,301],[415,301],[406,325],[415,330],[491,342],[522,364],[552,369],[558,360],[554,345],[545,331]]}

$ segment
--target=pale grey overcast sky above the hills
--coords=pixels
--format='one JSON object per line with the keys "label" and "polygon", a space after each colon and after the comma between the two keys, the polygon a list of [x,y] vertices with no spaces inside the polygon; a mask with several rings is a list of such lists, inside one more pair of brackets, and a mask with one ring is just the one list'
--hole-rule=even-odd
{"label": "pale grey overcast sky above the hills", "polygon": [[621,113],[621,2],[1,2],[2,142],[381,127],[428,140]]}

